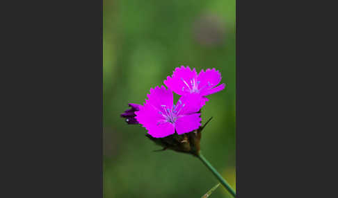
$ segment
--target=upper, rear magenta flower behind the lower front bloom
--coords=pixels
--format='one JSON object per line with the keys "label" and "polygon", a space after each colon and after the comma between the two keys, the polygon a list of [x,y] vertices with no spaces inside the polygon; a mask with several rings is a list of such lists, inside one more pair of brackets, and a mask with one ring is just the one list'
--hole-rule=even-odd
{"label": "upper, rear magenta flower behind the lower front bloom", "polygon": [[[207,96],[212,93],[216,93],[225,88],[225,84],[220,84],[222,76],[216,69],[207,69],[206,71],[200,71],[198,74],[195,68],[191,70],[189,66],[183,65],[177,67],[172,73],[172,76],[168,76],[167,80],[164,80],[164,84],[179,96],[184,96],[190,93],[198,93],[200,96]],[[207,98],[204,98],[207,101]]]}

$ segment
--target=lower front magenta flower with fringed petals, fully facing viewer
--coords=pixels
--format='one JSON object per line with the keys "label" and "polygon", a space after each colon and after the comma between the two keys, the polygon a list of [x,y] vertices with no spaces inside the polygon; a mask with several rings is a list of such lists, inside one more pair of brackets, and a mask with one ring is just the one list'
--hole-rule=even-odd
{"label": "lower front magenta flower with fringed petals, fully facing viewer", "polygon": [[202,98],[195,94],[182,96],[177,105],[173,105],[173,96],[170,89],[161,86],[150,89],[139,111],[136,111],[136,120],[147,129],[154,138],[163,138],[174,134],[192,132],[200,127]]}

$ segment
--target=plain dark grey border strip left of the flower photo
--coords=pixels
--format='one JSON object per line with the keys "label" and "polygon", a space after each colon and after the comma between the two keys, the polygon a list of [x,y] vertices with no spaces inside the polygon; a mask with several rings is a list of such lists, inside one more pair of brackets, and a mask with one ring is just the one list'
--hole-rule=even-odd
{"label": "plain dark grey border strip left of the flower photo", "polygon": [[102,197],[102,0],[1,7],[0,197]]}

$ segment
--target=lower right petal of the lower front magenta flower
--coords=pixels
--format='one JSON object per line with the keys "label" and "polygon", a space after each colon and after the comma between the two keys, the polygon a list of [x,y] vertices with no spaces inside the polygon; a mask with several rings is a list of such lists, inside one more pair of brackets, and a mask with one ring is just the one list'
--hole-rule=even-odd
{"label": "lower right petal of the lower front magenta flower", "polygon": [[200,114],[191,114],[188,116],[182,116],[176,120],[175,129],[177,134],[184,134],[192,132],[195,129],[198,129],[201,125]]}

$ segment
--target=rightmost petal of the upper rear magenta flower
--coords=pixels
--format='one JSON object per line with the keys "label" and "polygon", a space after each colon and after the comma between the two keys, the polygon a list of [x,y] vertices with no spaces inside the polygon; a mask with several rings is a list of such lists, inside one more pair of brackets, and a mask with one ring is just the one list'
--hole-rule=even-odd
{"label": "rightmost petal of the upper rear magenta flower", "polygon": [[200,93],[205,96],[205,93],[207,93],[208,89],[211,89],[211,87],[215,87],[218,83],[220,83],[220,80],[222,79],[222,76],[220,75],[220,72],[216,69],[207,69],[206,71],[203,71],[203,69],[198,74],[198,89],[200,90]]}

